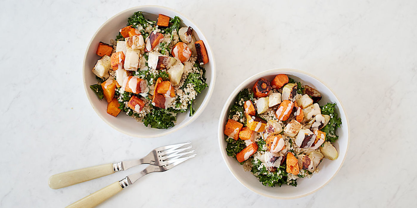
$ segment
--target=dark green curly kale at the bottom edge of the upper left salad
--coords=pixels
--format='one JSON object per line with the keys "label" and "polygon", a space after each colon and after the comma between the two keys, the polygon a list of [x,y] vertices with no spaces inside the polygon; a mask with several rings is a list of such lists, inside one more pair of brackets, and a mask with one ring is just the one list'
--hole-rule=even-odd
{"label": "dark green curly kale at the bottom edge of the upper left salad", "polygon": [[151,125],[155,129],[168,129],[174,126],[174,122],[177,121],[176,114],[166,109],[154,107],[151,113],[146,114],[142,119],[145,126]]}

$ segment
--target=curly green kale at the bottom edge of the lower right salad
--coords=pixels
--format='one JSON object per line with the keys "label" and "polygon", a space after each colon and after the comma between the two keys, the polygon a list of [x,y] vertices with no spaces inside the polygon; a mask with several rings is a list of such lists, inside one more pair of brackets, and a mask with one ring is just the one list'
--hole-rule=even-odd
{"label": "curly green kale at the bottom edge of the lower right salad", "polygon": [[[285,164],[279,166],[277,171],[269,172],[268,169],[262,165],[259,160],[252,160],[252,170],[251,172],[259,179],[259,181],[264,186],[274,187],[276,185],[281,186],[282,184],[287,183],[288,173],[286,172]],[[296,180],[291,180],[289,182],[291,186],[297,186]]]}

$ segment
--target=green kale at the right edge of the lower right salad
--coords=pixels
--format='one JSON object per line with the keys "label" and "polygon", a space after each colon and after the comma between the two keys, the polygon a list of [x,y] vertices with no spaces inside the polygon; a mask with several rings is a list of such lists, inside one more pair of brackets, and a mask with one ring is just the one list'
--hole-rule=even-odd
{"label": "green kale at the right edge of the lower right salad", "polygon": [[339,136],[337,136],[336,131],[337,128],[339,128],[342,124],[342,119],[340,119],[337,115],[337,112],[334,111],[335,106],[335,103],[327,103],[326,105],[320,107],[322,114],[330,116],[329,123],[326,126],[324,126],[323,129],[321,129],[321,131],[326,133],[326,140],[331,143],[339,139]]}

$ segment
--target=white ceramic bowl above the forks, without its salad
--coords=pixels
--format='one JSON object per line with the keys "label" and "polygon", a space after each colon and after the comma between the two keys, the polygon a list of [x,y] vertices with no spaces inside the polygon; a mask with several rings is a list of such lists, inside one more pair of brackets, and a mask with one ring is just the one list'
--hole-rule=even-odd
{"label": "white ceramic bowl above the forks, without its salad", "polygon": [[[97,95],[90,89],[91,84],[97,83],[95,75],[93,74],[93,72],[91,72],[91,69],[93,69],[97,60],[100,59],[100,57],[95,54],[98,43],[100,41],[109,43],[111,39],[114,39],[116,35],[118,35],[118,31],[120,30],[120,28],[126,27],[128,17],[130,17],[131,15],[133,15],[134,12],[137,11],[142,11],[143,15],[151,20],[156,20],[158,18],[158,14],[167,15],[169,17],[178,16],[182,20],[183,26],[191,26],[194,29],[193,35],[196,37],[197,40],[203,40],[204,45],[206,46],[209,59],[209,62],[205,64],[208,88],[204,89],[194,101],[193,107],[194,109],[196,109],[195,114],[191,117],[188,116],[188,112],[178,114],[175,126],[171,127],[170,129],[153,129],[150,126],[145,127],[141,122],[137,122],[135,119],[127,116],[123,112],[121,112],[117,117],[113,117],[107,114],[107,102],[103,100],[100,101],[97,98]],[[83,82],[85,93],[87,94],[91,106],[93,106],[93,109],[98,114],[98,116],[100,116],[100,118],[103,119],[103,121],[105,121],[109,126],[122,132],[123,134],[135,137],[151,138],[164,136],[190,124],[201,114],[201,112],[203,112],[204,108],[206,108],[208,100],[210,99],[211,93],[214,89],[215,79],[216,69],[214,57],[213,53],[211,52],[211,47],[208,44],[208,41],[201,33],[200,29],[198,29],[196,24],[194,24],[190,19],[184,17],[184,15],[182,15],[181,13],[171,10],[167,7],[154,5],[138,6],[124,10],[123,12],[114,15],[109,20],[104,22],[104,24],[101,25],[97,32],[95,32],[95,34],[90,40],[90,43],[88,44],[84,56]]]}

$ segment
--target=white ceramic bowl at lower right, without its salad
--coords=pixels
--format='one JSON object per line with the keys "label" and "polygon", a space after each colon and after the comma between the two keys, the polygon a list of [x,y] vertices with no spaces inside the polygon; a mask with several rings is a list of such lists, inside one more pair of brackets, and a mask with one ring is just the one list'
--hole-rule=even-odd
{"label": "white ceramic bowl at lower right, without its salad", "polygon": [[[236,95],[244,88],[252,89],[254,83],[259,78],[263,77],[271,81],[276,76],[276,74],[287,74],[297,82],[301,81],[303,84],[308,84],[309,86],[317,89],[322,95],[322,100],[319,102],[319,104],[322,105],[326,104],[327,102],[336,103],[337,113],[342,119],[342,125],[339,129],[337,129],[339,139],[334,143],[334,146],[339,153],[339,157],[334,161],[330,161],[324,158],[322,163],[319,165],[319,173],[314,174],[311,178],[297,179],[298,185],[296,187],[287,185],[282,185],[281,187],[263,186],[262,183],[259,182],[258,178],[256,178],[250,171],[245,172],[239,162],[236,161],[235,158],[227,156],[225,151],[227,143],[224,140],[223,131],[227,122],[229,108],[231,104],[233,104]],[[251,191],[258,193],[259,195],[267,196],[270,198],[300,198],[314,193],[315,191],[325,186],[336,175],[340,167],[342,167],[349,146],[349,122],[347,120],[346,114],[344,113],[343,106],[339,102],[339,99],[337,99],[332,90],[330,90],[329,87],[327,87],[323,82],[319,81],[317,77],[295,69],[271,69],[249,77],[244,82],[239,84],[239,86],[236,87],[236,89],[231,93],[220,114],[218,137],[220,152],[224,161],[226,162],[226,166],[229,168],[235,178],[244,186],[246,186],[246,188],[249,188]]]}

